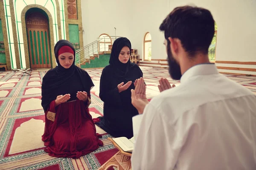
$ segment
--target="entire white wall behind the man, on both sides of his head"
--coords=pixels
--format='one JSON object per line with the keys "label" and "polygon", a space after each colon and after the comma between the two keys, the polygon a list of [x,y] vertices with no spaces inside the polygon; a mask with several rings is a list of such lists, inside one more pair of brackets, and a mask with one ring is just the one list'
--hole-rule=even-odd
{"label": "entire white wall behind the man, on both sides of his head", "polygon": [[[148,31],[152,36],[152,59],[166,59],[164,35],[159,31],[160,24],[173,8],[196,5],[209,9],[217,23],[216,60],[256,61],[255,0],[193,0],[193,3],[189,0],[82,1],[83,7],[88,7],[86,10],[82,9],[83,26],[86,28],[85,44],[92,42],[102,33],[114,35],[113,27],[116,27],[116,35],[128,37],[132,48],[137,48],[143,58],[143,38]],[[109,20],[102,20],[102,15]],[[232,67],[230,64],[216,65]],[[237,67],[256,68],[256,65]]]}

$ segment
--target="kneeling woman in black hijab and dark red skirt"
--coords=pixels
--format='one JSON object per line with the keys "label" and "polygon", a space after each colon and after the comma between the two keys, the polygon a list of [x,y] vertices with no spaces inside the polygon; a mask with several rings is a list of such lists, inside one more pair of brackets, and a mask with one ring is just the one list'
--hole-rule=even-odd
{"label": "kneeling woman in black hijab and dark red skirt", "polygon": [[79,158],[103,145],[88,109],[94,84],[75,65],[75,49],[69,41],[58,41],[54,53],[58,66],[47,71],[42,82],[44,150],[54,157]]}

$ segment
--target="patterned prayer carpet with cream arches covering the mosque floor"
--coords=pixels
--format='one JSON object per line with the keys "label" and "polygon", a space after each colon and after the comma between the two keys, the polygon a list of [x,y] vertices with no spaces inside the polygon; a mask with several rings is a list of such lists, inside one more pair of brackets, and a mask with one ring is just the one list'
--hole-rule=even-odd
{"label": "patterned prayer carpet with cream arches covering the mosque floor", "polygon": [[[147,84],[147,96],[159,94],[157,85],[161,77],[169,79],[165,68],[141,67]],[[99,98],[99,80],[102,68],[86,69],[95,84],[92,89],[90,114],[93,118],[102,116],[103,102]],[[44,133],[44,111],[41,107],[41,83],[46,70],[33,70],[31,76],[21,72],[0,72],[0,170],[97,170],[110,159],[117,149],[107,139],[111,137],[104,130],[96,127],[97,133],[103,134],[104,146],[79,159],[53,158],[44,152],[41,136]],[[244,85],[256,94],[256,77],[226,75]]]}

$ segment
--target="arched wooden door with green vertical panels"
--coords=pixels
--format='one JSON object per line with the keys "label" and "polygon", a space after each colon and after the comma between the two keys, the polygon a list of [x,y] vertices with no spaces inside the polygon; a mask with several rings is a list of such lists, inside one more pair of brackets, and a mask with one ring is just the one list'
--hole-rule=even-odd
{"label": "arched wooden door with green vertical panels", "polygon": [[31,68],[50,68],[49,26],[47,18],[34,12],[26,17]]}

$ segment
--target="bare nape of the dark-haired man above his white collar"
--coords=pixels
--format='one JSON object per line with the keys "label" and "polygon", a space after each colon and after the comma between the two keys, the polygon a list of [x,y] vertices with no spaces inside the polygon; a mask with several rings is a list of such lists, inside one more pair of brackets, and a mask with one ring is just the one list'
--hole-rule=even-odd
{"label": "bare nape of the dark-haired man above his white collar", "polygon": [[180,61],[181,74],[184,74],[189,68],[195,65],[204,63],[209,63],[208,55],[198,54],[192,58],[183,57],[183,60]]}

